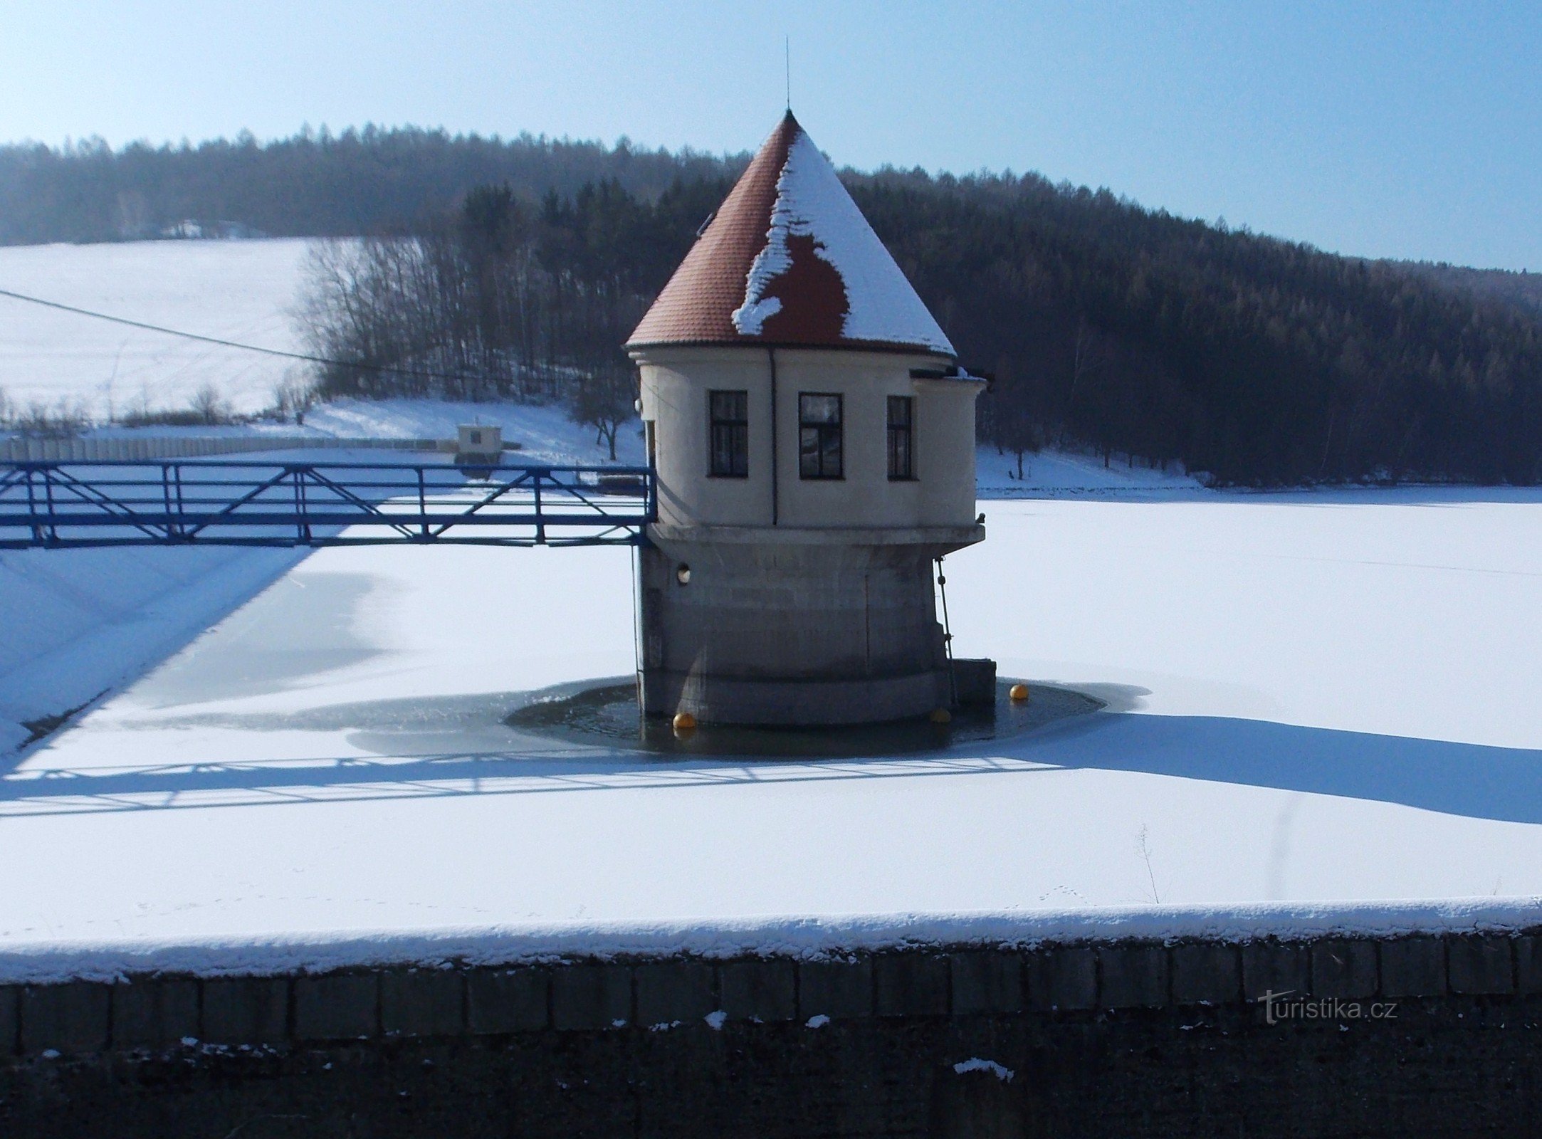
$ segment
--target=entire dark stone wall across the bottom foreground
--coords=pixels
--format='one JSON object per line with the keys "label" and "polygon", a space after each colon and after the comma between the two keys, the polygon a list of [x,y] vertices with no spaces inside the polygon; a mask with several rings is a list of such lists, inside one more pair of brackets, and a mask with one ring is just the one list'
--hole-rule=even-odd
{"label": "entire dark stone wall across the bottom foreground", "polygon": [[[1539,945],[916,946],[5,986],[0,1133],[1533,1133]],[[1318,1013],[1263,1000],[1286,993]]]}

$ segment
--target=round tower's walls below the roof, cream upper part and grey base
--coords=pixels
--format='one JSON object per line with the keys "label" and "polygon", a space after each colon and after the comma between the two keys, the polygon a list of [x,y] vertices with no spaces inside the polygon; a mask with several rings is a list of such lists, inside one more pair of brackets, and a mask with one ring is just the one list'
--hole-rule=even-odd
{"label": "round tower's walls below the roof, cream upper part and grey base", "polygon": [[[931,569],[984,538],[981,381],[916,378],[942,365],[905,353],[669,347],[634,358],[658,472],[658,522],[640,553],[645,711],[793,724],[947,706]],[[746,393],[743,478],[711,475],[714,390]],[[842,396],[839,479],[800,476],[800,393]],[[890,479],[888,396],[914,399],[911,479]]]}

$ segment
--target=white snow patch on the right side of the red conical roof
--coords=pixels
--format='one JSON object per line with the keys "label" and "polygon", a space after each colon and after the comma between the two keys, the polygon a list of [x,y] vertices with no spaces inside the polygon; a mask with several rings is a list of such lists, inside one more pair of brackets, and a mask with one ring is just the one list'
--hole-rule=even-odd
{"label": "white snow patch on the right side of the red conical roof", "polygon": [[953,356],[953,344],[916,296],[899,265],[873,233],[836,168],[799,131],[777,176],[766,247],[745,279],[745,302],[734,314],[743,336],[759,336],[766,318],[780,311],[766,290],[793,267],[788,237],[813,237],[814,254],[845,282],[848,311],[842,336],[850,341],[917,344]]}

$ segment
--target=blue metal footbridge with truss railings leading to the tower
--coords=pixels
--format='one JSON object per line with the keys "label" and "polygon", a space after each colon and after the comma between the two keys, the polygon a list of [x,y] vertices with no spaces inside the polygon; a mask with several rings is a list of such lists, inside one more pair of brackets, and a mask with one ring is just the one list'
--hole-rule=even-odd
{"label": "blue metal footbridge with truss railings leading to the tower", "polygon": [[635,546],[648,467],[386,462],[0,464],[0,549]]}

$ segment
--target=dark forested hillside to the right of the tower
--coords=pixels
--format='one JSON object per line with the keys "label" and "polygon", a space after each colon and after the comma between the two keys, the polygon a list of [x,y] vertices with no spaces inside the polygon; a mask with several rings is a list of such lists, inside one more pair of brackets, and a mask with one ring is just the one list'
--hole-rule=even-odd
{"label": "dark forested hillside to the right of the tower", "polygon": [[853,190],[996,373],[982,427],[1008,445],[1064,432],[1231,482],[1542,478],[1520,304],[1033,176]]}

